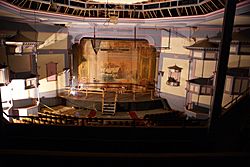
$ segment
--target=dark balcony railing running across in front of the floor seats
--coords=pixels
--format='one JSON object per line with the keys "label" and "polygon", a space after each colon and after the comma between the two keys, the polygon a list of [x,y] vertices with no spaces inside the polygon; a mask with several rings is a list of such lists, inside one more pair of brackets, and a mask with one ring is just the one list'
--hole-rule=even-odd
{"label": "dark balcony railing running across in front of the floor seats", "polygon": [[95,126],[95,127],[133,127],[133,128],[206,128],[207,120],[186,119],[124,119],[124,118],[87,118],[71,115],[41,115],[40,116],[15,116],[8,115],[10,123],[39,124],[51,126]]}

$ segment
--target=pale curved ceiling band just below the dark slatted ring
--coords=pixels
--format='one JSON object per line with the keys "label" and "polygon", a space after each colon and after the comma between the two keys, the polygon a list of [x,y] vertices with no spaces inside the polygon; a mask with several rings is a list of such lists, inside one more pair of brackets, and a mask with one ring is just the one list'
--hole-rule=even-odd
{"label": "pale curved ceiling band just below the dark slatted ring", "polygon": [[[105,1],[105,0],[104,0]],[[120,0],[117,0],[121,2]],[[127,2],[127,0],[123,0]],[[149,0],[152,2],[155,0]],[[93,1],[91,1],[93,2]],[[111,2],[109,0],[108,2]],[[144,1],[145,2],[145,1]],[[235,25],[250,27],[250,0],[245,0],[244,6],[238,6],[236,11]],[[190,26],[221,26],[223,22],[224,10],[218,10],[214,13],[208,13],[198,16],[187,17],[166,17],[154,19],[129,19],[119,18],[116,24],[113,24],[107,18],[89,18],[89,17],[76,17],[62,14],[54,14],[47,12],[32,11],[21,9],[16,6],[11,6],[3,1],[0,1],[0,19],[11,20],[26,23],[42,23],[42,24],[61,24],[67,27],[84,28],[85,26],[112,26],[112,27],[190,27]],[[63,16],[63,17],[62,17]]]}

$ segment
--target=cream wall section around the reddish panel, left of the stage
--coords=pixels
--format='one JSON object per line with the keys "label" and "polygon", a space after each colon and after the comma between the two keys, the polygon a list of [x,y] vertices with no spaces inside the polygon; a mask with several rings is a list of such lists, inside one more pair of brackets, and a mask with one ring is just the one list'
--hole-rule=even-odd
{"label": "cream wall section around the reddish panel, left of the stage", "polygon": [[[65,55],[68,51],[68,34],[63,32],[39,32],[38,40],[44,41],[38,49],[37,68],[39,74],[39,93],[41,98],[57,97],[66,86]],[[56,64],[55,80],[48,80],[47,64]],[[67,78],[69,79],[69,78]]]}

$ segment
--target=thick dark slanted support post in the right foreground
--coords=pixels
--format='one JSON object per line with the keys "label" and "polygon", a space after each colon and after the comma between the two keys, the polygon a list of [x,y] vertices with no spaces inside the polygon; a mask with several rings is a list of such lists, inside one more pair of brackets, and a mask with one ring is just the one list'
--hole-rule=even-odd
{"label": "thick dark slanted support post in the right foreground", "polygon": [[234,17],[236,10],[236,0],[227,0],[224,11],[224,20],[222,27],[222,37],[219,48],[219,61],[217,66],[214,94],[212,106],[210,110],[210,120],[208,130],[210,134],[214,134],[218,125],[218,120],[222,112],[222,100],[224,93],[224,85],[227,74],[228,59],[230,54],[230,44],[232,40],[232,32],[234,25]]}

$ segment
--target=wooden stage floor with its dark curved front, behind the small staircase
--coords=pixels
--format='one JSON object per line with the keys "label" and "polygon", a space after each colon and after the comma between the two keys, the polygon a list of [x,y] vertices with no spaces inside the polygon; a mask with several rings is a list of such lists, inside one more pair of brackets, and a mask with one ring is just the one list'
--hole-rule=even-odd
{"label": "wooden stage floor with its dark curved front, behind the small staircase", "polygon": [[[96,111],[102,111],[103,97],[104,102],[114,102],[116,93],[108,92],[92,94],[77,93],[75,95],[68,93],[61,93],[60,97],[65,99],[66,106],[73,106],[76,108],[87,108]],[[170,110],[166,99],[152,96],[151,93],[121,93],[117,94],[116,112],[129,111],[147,111],[147,110]]]}

